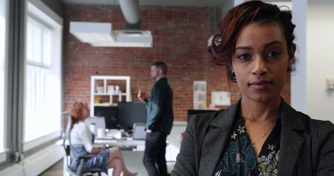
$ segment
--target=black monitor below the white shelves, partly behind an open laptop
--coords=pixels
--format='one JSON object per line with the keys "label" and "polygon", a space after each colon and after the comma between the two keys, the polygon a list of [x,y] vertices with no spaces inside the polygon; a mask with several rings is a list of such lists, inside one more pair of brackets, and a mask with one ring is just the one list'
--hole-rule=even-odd
{"label": "black monitor below the white shelves, partly behind an open laptop", "polygon": [[94,116],[104,117],[106,121],[107,129],[117,128],[117,115],[118,108],[117,106],[95,106],[94,107]]}

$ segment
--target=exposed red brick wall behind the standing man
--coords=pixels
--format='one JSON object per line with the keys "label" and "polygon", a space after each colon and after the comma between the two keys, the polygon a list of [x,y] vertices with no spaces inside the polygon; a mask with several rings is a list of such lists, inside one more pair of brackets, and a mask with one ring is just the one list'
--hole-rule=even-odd
{"label": "exposed red brick wall behind the standing man", "polygon": [[[152,48],[91,47],[69,33],[69,21],[112,22],[113,29],[125,28],[121,9],[101,5],[67,5],[65,7],[64,110],[75,101],[90,101],[91,75],[131,77],[132,100],[137,92],[149,93],[154,85],[150,66],[164,61],[168,66],[168,81],[174,93],[174,121],[186,121],[187,109],[192,109],[193,81],[207,81],[207,104],[211,91],[228,91],[225,68],[214,65],[206,51],[207,39],[213,30],[213,8],[141,7],[142,29],[150,29]],[[219,13],[217,12],[220,16]],[[219,20],[219,19],[218,19]],[[150,23],[149,23],[150,21]],[[290,78],[282,92],[290,103]],[[232,83],[231,103],[241,97]],[[225,107],[218,107],[225,108]]]}

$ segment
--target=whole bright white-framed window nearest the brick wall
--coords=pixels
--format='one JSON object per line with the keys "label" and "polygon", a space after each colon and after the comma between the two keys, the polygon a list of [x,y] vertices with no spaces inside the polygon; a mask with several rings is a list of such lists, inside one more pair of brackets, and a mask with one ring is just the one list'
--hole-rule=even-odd
{"label": "whole bright white-framed window nearest the brick wall", "polygon": [[27,10],[25,151],[59,137],[61,129],[61,26],[30,3]]}

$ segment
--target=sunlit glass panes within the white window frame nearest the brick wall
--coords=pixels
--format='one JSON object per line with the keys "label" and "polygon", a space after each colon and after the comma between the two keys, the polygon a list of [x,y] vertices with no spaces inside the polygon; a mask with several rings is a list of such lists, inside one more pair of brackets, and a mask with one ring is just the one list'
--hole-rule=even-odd
{"label": "sunlit glass panes within the white window frame nearest the brick wall", "polygon": [[[50,106],[57,106],[51,99],[47,99],[47,93],[52,89],[58,89],[60,80],[55,80],[54,87],[49,87],[48,78],[51,60],[51,29],[45,27],[36,20],[27,19],[27,45],[26,45],[26,109],[25,109],[25,141],[31,141],[40,136],[57,131],[59,121],[53,121]],[[52,79],[52,77],[51,77]],[[49,89],[51,90],[49,90]],[[51,120],[51,121],[50,121]],[[47,125],[47,124],[55,125]],[[60,124],[59,124],[60,125]],[[36,128],[38,126],[38,128]]]}

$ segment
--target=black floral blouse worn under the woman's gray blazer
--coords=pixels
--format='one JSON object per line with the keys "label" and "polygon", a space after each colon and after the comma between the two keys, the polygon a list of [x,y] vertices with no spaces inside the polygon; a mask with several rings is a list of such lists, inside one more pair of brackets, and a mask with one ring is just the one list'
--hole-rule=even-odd
{"label": "black floral blouse worn under the woman's gray blazer", "polygon": [[251,139],[243,125],[243,117],[239,115],[235,119],[214,176],[276,176],[280,142],[281,118],[276,120],[276,125],[256,158]]}

